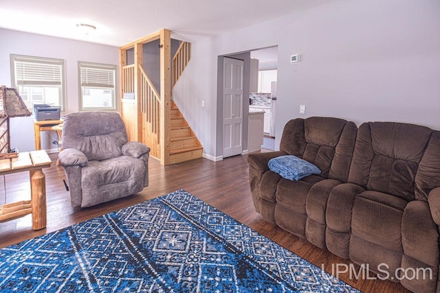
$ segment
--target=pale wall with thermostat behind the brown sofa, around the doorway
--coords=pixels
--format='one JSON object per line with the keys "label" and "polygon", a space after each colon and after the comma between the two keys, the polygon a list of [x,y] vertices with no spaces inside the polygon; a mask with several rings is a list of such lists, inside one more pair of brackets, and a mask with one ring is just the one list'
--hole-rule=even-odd
{"label": "pale wall with thermostat behind the brown sofa, around the doorway", "polygon": [[[278,45],[276,145],[289,119],[400,121],[440,130],[440,1],[340,0],[193,44],[175,95],[208,157],[215,148],[217,56]],[[291,65],[289,57],[300,54]],[[180,82],[180,81],[179,81]],[[181,91],[183,89],[183,91]],[[206,100],[201,108],[200,100]],[[299,105],[306,115],[298,114]],[[217,143],[219,144],[219,143]]]}

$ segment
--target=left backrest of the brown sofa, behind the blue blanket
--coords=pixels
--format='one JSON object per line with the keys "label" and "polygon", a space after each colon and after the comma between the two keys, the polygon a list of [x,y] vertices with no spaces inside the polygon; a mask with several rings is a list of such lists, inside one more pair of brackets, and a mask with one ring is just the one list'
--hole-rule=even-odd
{"label": "left backrest of the brown sofa, behind the blue blanket", "polygon": [[347,182],[357,130],[344,119],[292,119],[284,127],[280,150],[318,166],[325,178]]}

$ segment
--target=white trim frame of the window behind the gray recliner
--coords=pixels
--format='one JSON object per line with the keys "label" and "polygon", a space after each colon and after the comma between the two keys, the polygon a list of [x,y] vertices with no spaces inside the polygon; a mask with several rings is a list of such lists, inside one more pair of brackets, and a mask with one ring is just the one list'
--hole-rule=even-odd
{"label": "white trim frame of the window behind the gray recliner", "polygon": [[[81,67],[95,67],[98,69],[109,69],[114,71],[114,86],[113,88],[109,87],[109,89],[113,89],[113,107],[89,107],[83,108],[83,84],[81,84]],[[92,84],[93,85],[93,84]],[[93,62],[84,62],[78,61],[78,93],[79,93],[79,110],[80,111],[94,111],[94,110],[104,110],[104,111],[117,111],[118,110],[118,66],[102,64],[102,63],[93,63]]]}

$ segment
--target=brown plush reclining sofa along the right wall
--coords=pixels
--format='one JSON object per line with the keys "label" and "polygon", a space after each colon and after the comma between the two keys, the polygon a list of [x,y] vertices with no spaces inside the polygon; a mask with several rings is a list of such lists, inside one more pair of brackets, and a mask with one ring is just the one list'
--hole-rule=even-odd
{"label": "brown plush reclining sofa along the right wall", "polygon": [[[292,181],[267,167],[286,154],[313,163],[321,174]],[[440,291],[439,131],[294,119],[284,128],[280,151],[249,154],[248,162],[254,207],[265,220],[335,255],[368,263],[381,278],[409,290]]]}

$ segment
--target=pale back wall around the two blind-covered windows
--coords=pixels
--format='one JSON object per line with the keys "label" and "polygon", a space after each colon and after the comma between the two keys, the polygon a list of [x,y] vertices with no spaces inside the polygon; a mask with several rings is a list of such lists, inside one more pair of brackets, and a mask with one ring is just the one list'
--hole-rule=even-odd
{"label": "pale back wall around the two blind-covered windows", "polygon": [[[0,38],[0,84],[5,86],[11,86],[10,54],[65,60],[67,112],[76,112],[79,109],[78,61],[119,66],[118,47],[3,29],[0,29]],[[34,150],[34,117],[11,118],[10,135],[11,148],[19,148],[23,152]],[[51,132],[50,135],[56,138],[56,132]],[[41,132],[41,147],[45,150],[55,147],[45,132]]]}

